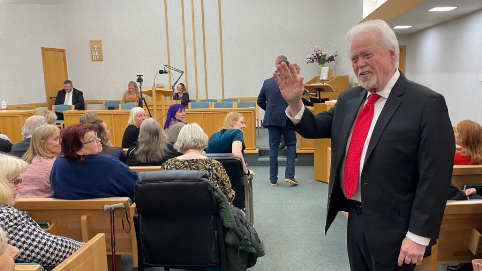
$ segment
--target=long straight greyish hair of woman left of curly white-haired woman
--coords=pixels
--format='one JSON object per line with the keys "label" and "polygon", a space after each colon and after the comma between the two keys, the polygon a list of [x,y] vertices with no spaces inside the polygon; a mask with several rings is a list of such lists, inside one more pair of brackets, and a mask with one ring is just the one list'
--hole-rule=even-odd
{"label": "long straight greyish hair of woman left of curly white-haired woman", "polygon": [[148,118],[141,124],[138,146],[134,152],[142,163],[161,161],[166,157],[167,134],[154,118]]}

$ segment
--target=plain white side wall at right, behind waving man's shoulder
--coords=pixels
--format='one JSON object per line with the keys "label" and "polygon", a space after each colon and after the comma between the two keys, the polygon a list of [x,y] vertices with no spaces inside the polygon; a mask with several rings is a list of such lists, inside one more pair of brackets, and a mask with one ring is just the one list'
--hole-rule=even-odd
{"label": "plain white side wall at right, behind waving man's shoulder", "polygon": [[482,10],[412,35],[411,80],[443,94],[452,124],[482,123]]}

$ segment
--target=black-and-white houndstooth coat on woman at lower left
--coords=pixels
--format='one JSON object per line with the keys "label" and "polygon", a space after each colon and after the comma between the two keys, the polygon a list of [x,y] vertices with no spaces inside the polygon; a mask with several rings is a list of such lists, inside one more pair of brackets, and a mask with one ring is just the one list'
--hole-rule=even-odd
{"label": "black-and-white houndstooth coat on woman at lower left", "polygon": [[57,266],[84,243],[47,233],[27,214],[9,205],[0,205],[0,226],[9,243],[20,250],[16,262],[35,262],[46,270]]}

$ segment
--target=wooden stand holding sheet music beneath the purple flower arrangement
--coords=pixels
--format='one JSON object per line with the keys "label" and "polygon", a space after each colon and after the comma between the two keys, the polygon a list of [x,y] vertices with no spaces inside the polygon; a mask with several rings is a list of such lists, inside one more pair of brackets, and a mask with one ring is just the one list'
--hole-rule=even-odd
{"label": "wooden stand holding sheet music beneath the purple flower arrangement", "polygon": [[333,70],[328,73],[328,79],[320,80],[319,76],[313,77],[305,84],[309,92],[305,98],[310,98],[313,103],[320,103],[321,99],[336,99],[344,90],[348,89],[348,75],[332,77]]}

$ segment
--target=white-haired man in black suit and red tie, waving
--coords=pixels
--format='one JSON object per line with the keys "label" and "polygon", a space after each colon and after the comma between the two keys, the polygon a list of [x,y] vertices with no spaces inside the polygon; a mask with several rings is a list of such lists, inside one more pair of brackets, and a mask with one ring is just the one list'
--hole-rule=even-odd
{"label": "white-haired man in black suit and red tie, waving", "polygon": [[346,40],[362,86],[330,110],[304,108],[293,65],[278,65],[273,77],[289,104],[287,125],[304,138],[331,138],[325,233],[348,212],[351,269],[413,270],[438,238],[447,200],[455,152],[447,106],[397,70],[397,37],[384,21],[360,23]]}

